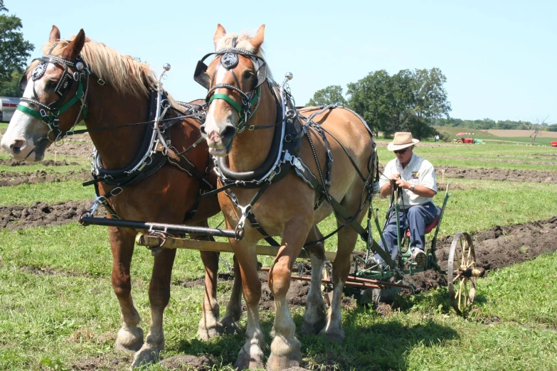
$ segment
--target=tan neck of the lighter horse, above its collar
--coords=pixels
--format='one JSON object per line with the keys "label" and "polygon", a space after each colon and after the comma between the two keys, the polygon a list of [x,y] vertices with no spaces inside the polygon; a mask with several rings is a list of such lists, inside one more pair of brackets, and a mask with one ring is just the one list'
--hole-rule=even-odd
{"label": "tan neck of the lighter horse, above its collar", "polygon": [[[272,125],[277,119],[277,105],[267,84],[261,87],[261,102],[258,111],[248,125]],[[269,154],[272,137],[275,132],[269,129],[245,129],[233,139],[232,149],[228,155],[228,166],[232,171],[252,171],[262,165]]]}

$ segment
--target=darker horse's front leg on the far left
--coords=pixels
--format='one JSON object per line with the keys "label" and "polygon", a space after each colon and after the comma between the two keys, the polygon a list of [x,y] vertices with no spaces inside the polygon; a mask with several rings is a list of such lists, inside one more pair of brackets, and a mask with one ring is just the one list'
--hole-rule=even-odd
{"label": "darker horse's front leg on the far left", "polygon": [[127,352],[136,352],[143,345],[143,330],[137,326],[141,318],[134,307],[129,276],[136,233],[125,228],[108,228],[110,247],[112,247],[112,289],[120,303],[122,319],[122,328],[116,336],[115,348]]}

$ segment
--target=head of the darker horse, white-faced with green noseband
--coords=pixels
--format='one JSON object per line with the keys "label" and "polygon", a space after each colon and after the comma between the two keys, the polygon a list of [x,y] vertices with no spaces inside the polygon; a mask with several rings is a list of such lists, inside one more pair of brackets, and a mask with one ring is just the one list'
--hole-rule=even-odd
{"label": "head of the darker horse, white-faced with green noseband", "polygon": [[78,60],[85,33],[60,41],[52,27],[46,54],[31,63],[21,84],[23,97],[11,118],[1,146],[16,160],[41,161],[44,152],[83,115],[83,80],[86,66]]}

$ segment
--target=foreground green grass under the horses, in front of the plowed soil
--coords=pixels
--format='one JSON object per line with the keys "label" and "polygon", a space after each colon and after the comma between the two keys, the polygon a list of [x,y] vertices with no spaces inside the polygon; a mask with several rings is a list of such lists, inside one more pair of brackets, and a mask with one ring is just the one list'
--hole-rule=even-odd
{"label": "foreground green grass under the horses, in front of the plowed soil", "polygon": [[[112,349],[120,311],[108,277],[105,229],[68,225],[50,230],[2,233],[6,244],[0,265],[0,369],[69,370],[96,357],[100,369],[127,370],[129,357]],[[16,242],[16,234],[23,236],[21,242]],[[178,253],[174,281],[191,276],[191,271],[202,274],[192,254]],[[138,248],[132,285],[144,329],[149,321],[151,264],[149,252]],[[22,269],[53,265],[56,274]],[[445,288],[414,296],[413,306],[388,316],[366,308],[346,309],[344,345],[298,333],[303,360],[315,370],[333,363],[337,370],[539,370],[540,365],[556,369],[557,298],[546,294],[557,290],[556,266],[557,254],[546,254],[480,280],[477,308],[468,319],[447,309]],[[220,286],[221,298],[228,295],[226,289]],[[171,291],[163,356],[208,354],[225,366],[216,370],[229,370],[243,336],[225,335],[208,343],[196,340],[202,287],[173,285]],[[299,330],[303,308],[292,313]],[[262,312],[261,318],[268,342],[272,313]]]}

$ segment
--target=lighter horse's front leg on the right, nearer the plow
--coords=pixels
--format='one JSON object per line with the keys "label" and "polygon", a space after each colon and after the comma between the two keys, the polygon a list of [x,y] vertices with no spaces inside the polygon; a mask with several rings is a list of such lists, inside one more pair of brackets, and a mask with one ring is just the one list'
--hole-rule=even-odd
{"label": "lighter horse's front leg on the right, nearer the plow", "polygon": [[297,367],[302,362],[300,343],[295,334],[296,325],[288,310],[286,294],[290,289],[292,266],[311,227],[305,219],[290,220],[285,225],[282,247],[269,271],[269,289],[275,296],[275,338],[271,343],[267,370],[285,370]]}

